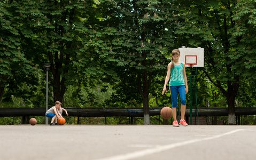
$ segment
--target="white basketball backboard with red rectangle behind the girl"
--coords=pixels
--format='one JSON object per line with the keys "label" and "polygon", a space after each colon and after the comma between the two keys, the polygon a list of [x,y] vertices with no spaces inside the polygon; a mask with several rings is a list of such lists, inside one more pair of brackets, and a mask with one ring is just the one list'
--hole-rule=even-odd
{"label": "white basketball backboard with red rectangle behind the girl", "polygon": [[203,48],[179,48],[181,52],[180,61],[185,63],[186,67],[204,67],[204,49]]}

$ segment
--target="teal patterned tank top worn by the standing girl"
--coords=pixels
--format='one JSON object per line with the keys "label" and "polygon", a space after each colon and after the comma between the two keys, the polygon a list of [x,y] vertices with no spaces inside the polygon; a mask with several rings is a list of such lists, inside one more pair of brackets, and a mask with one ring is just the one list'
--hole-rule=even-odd
{"label": "teal patterned tank top worn by the standing girl", "polygon": [[183,79],[183,63],[182,62],[181,62],[181,65],[179,66],[174,65],[174,68],[170,69],[169,86],[179,86],[179,85],[185,85],[185,82]]}

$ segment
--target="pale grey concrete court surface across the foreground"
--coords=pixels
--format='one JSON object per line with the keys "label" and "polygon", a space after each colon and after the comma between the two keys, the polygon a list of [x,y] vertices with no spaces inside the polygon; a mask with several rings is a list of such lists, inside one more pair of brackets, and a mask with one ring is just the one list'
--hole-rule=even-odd
{"label": "pale grey concrete court surface across the foreground", "polygon": [[0,159],[256,159],[256,126],[0,125]]}

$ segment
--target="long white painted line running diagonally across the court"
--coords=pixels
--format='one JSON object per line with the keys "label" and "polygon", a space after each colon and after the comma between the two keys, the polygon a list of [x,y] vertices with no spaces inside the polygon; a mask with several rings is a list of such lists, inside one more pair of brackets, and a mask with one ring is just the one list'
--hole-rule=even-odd
{"label": "long white painted line running diagonally across the court", "polygon": [[229,135],[229,134],[236,133],[238,131],[243,131],[243,130],[244,129],[234,130],[234,131],[230,131],[227,133],[215,135],[213,137],[208,137],[208,138],[204,138],[204,139],[195,139],[195,140],[189,140],[189,141],[184,141],[184,142],[178,142],[178,143],[174,143],[171,145],[165,145],[165,146],[160,146],[157,148],[139,150],[139,151],[135,151],[133,153],[127,153],[127,154],[117,155],[117,156],[113,156],[113,157],[102,158],[102,159],[98,159],[98,160],[126,160],[126,159],[138,158],[138,157],[142,157],[145,155],[159,153],[161,151],[169,150],[169,149],[172,149],[175,147],[189,145],[189,144],[195,143],[195,142],[201,142],[201,141],[211,140],[211,139],[215,139],[215,138],[220,138],[220,137],[223,137],[224,135]]}

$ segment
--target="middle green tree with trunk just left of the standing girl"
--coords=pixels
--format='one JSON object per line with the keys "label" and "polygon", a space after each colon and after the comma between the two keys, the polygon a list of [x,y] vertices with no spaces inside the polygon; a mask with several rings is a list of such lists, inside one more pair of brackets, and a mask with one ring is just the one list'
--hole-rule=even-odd
{"label": "middle green tree with trunk just left of the standing girl", "polygon": [[118,60],[119,76],[128,73],[133,83],[136,81],[130,86],[137,87],[143,101],[144,124],[149,124],[150,86],[158,70],[166,69],[164,54],[173,46],[168,28],[177,9],[167,1],[153,0],[105,1],[102,6],[106,30],[113,31],[108,53]]}

